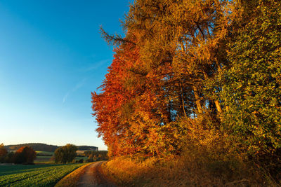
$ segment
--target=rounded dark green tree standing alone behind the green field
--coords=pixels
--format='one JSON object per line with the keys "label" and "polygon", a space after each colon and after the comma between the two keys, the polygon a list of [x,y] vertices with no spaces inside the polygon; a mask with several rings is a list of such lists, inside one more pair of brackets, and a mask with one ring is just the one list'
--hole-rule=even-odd
{"label": "rounded dark green tree standing alone behind the green field", "polygon": [[54,157],[56,163],[73,162],[76,157],[77,146],[72,144],[66,144],[55,150]]}

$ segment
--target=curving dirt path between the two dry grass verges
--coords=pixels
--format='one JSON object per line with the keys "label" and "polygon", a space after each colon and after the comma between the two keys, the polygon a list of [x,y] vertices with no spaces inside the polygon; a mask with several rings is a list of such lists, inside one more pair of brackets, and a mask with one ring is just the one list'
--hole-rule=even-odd
{"label": "curving dirt path between the two dry grass verges", "polygon": [[110,183],[103,172],[101,172],[101,165],[104,161],[94,162],[93,164],[85,167],[85,173],[80,177],[77,186],[79,187],[88,187],[88,186],[98,186],[98,187],[115,187],[113,183]]}

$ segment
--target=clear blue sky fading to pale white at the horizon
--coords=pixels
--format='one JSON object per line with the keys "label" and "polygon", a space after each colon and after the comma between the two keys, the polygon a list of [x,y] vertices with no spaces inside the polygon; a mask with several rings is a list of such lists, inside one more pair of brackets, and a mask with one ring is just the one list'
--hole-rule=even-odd
{"label": "clear blue sky fading to pale white at the horizon", "polygon": [[0,144],[105,150],[91,91],[112,62],[99,27],[121,34],[129,0],[0,1]]}

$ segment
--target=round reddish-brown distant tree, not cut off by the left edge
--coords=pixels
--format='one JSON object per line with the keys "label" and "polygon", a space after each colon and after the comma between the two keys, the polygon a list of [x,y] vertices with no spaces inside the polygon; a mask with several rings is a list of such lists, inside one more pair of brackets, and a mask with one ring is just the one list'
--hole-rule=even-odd
{"label": "round reddish-brown distant tree, not cut off by the left edge", "polygon": [[14,162],[16,164],[32,164],[36,158],[36,152],[30,146],[22,146],[15,152]]}

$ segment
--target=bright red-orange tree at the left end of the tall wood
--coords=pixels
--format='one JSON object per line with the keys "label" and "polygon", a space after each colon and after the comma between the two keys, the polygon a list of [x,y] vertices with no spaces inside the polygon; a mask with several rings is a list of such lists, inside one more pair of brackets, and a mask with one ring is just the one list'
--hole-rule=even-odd
{"label": "bright red-orange tree at the left end of the tall wood", "polygon": [[[126,48],[126,50],[122,50]],[[133,148],[126,145],[129,139],[125,139],[128,132],[128,123],[124,121],[124,106],[131,102],[133,90],[128,90],[125,86],[126,79],[129,78],[128,69],[131,63],[138,57],[138,51],[132,46],[120,46],[115,49],[115,56],[108,74],[105,76],[101,92],[92,93],[93,115],[98,121],[98,133],[103,137],[105,144],[109,148],[109,155],[132,153]],[[128,60],[129,59],[129,60]]]}

